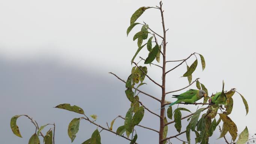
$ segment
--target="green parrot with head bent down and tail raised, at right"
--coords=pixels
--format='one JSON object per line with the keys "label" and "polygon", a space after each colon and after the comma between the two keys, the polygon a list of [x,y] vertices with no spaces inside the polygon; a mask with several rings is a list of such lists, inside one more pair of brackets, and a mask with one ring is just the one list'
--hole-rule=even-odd
{"label": "green parrot with head bent down and tail raised, at right", "polygon": [[224,93],[224,82],[223,82],[223,86],[222,86],[222,92],[217,92],[216,94],[212,95],[209,98],[209,103],[211,103],[211,104],[223,104],[223,105],[227,104],[227,96]]}

